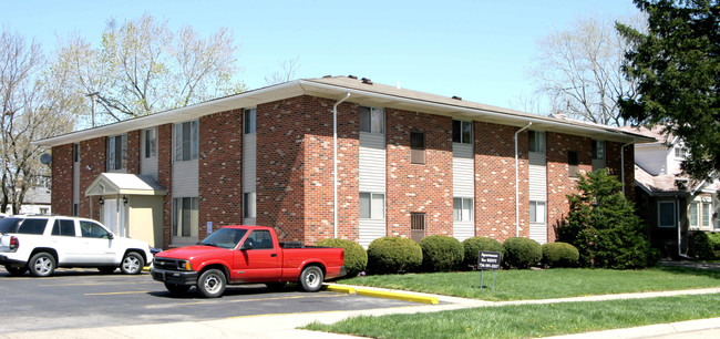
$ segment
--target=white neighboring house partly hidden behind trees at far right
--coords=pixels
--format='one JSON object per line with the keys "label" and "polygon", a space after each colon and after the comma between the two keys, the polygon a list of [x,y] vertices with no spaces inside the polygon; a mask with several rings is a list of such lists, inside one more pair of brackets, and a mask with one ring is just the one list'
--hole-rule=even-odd
{"label": "white neighboring house partly hidden behind trees at far right", "polygon": [[682,141],[661,135],[661,126],[625,130],[658,140],[635,145],[636,202],[654,247],[677,255],[687,249],[687,230],[720,232],[720,182],[697,182],[681,173]]}

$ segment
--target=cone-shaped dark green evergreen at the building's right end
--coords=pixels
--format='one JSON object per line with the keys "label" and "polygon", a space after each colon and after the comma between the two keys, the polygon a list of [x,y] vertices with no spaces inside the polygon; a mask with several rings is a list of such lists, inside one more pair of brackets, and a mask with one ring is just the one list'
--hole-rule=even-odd
{"label": "cone-shaped dark green evergreen at the building's right end", "polygon": [[645,225],[607,170],[580,175],[578,193],[567,195],[570,212],[557,228],[558,240],[577,247],[584,267],[645,267],[652,257]]}

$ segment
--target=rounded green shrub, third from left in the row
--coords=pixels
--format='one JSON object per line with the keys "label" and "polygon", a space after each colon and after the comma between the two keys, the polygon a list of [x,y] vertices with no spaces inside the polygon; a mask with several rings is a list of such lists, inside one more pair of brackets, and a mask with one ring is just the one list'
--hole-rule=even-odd
{"label": "rounded green shrub, third from left in the row", "polygon": [[420,240],[422,248],[422,268],[425,271],[449,271],[463,261],[463,245],[460,240],[434,235]]}

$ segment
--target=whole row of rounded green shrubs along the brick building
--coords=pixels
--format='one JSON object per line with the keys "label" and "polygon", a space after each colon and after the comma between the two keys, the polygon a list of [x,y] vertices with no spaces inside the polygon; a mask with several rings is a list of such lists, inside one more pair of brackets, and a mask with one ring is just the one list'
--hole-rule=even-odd
{"label": "whole row of rounded green shrubs along the brick building", "polygon": [[317,245],[344,248],[347,277],[363,271],[382,275],[472,269],[477,265],[480,250],[500,251],[503,267],[521,269],[537,265],[576,267],[579,257],[573,245],[548,243],[541,246],[533,239],[522,237],[507,238],[503,244],[484,237],[460,243],[449,236],[435,235],[423,238],[420,244],[409,238],[382,237],[373,240],[368,250],[344,239],[325,239]]}

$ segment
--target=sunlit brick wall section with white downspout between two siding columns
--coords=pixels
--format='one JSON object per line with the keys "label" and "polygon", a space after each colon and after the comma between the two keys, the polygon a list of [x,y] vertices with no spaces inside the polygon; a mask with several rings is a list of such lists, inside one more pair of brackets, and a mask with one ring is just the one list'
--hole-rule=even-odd
{"label": "sunlit brick wall section with white downspout between two siding columns", "polygon": [[[515,236],[515,132],[520,127],[475,122],[475,235],[503,242]],[[520,235],[528,236],[527,132],[517,136]]]}

